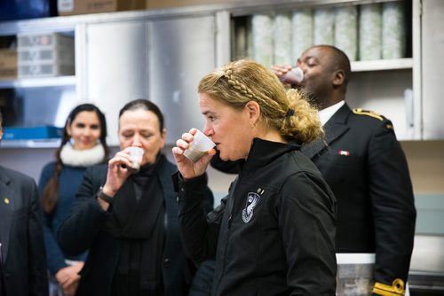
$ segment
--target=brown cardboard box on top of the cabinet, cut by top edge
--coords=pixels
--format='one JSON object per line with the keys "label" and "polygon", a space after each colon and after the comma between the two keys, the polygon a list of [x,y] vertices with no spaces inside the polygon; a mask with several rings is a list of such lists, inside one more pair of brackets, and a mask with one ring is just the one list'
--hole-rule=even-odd
{"label": "brown cardboard box on top of the cabinet, cut by top edge", "polygon": [[145,9],[146,0],[57,0],[59,15]]}

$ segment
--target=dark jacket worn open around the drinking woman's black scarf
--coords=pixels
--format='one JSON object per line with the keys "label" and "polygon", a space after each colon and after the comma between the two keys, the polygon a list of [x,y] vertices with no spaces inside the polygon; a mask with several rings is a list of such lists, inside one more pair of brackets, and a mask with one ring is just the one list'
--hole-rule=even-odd
{"label": "dark jacket worn open around the drinking woman's black scarf", "polygon": [[[163,296],[185,296],[193,277],[191,261],[186,260],[178,235],[178,203],[170,175],[177,167],[161,155],[155,174],[159,178],[165,206],[165,238],[162,255]],[[88,259],[80,272],[81,279],[75,295],[109,296],[113,294],[112,284],[118,269],[122,240],[104,231],[104,224],[113,210],[104,211],[96,199],[96,193],[107,179],[107,165],[87,168],[83,183],[75,195],[75,202],[58,232],[59,245],[67,254],[83,253],[88,249]],[[206,196],[212,203],[207,187]],[[131,183],[123,184],[115,199],[129,199],[134,194]],[[209,199],[204,202],[208,210]]]}

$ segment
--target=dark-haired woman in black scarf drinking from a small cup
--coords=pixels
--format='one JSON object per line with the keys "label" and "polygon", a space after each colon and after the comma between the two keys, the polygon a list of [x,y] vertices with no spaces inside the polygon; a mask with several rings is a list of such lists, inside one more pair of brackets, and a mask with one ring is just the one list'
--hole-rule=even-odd
{"label": "dark-haired woman in black scarf drinking from a small cup", "polygon": [[150,101],[131,101],[118,134],[120,151],[85,172],[59,229],[66,253],[90,250],[76,295],[186,296],[194,269],[178,236],[170,179],[177,168],[162,153],[163,114]]}

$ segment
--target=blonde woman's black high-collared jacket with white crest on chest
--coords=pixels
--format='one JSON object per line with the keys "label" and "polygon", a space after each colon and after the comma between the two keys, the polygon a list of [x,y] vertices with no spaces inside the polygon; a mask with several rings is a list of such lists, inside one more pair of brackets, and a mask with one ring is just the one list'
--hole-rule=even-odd
{"label": "blonde woman's black high-collared jacket with white crest on chest", "polygon": [[178,176],[179,226],[194,261],[216,255],[212,295],[334,295],[336,201],[297,146],[254,139],[221,205]]}

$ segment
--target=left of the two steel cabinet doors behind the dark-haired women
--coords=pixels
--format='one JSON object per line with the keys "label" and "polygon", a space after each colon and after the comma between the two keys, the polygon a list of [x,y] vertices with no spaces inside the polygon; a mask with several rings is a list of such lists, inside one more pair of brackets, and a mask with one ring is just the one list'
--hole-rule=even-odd
{"label": "left of the two steel cabinet doors behind the dark-haired women", "polygon": [[89,24],[86,27],[85,99],[107,117],[109,144],[118,144],[118,113],[123,105],[147,97],[145,21]]}

